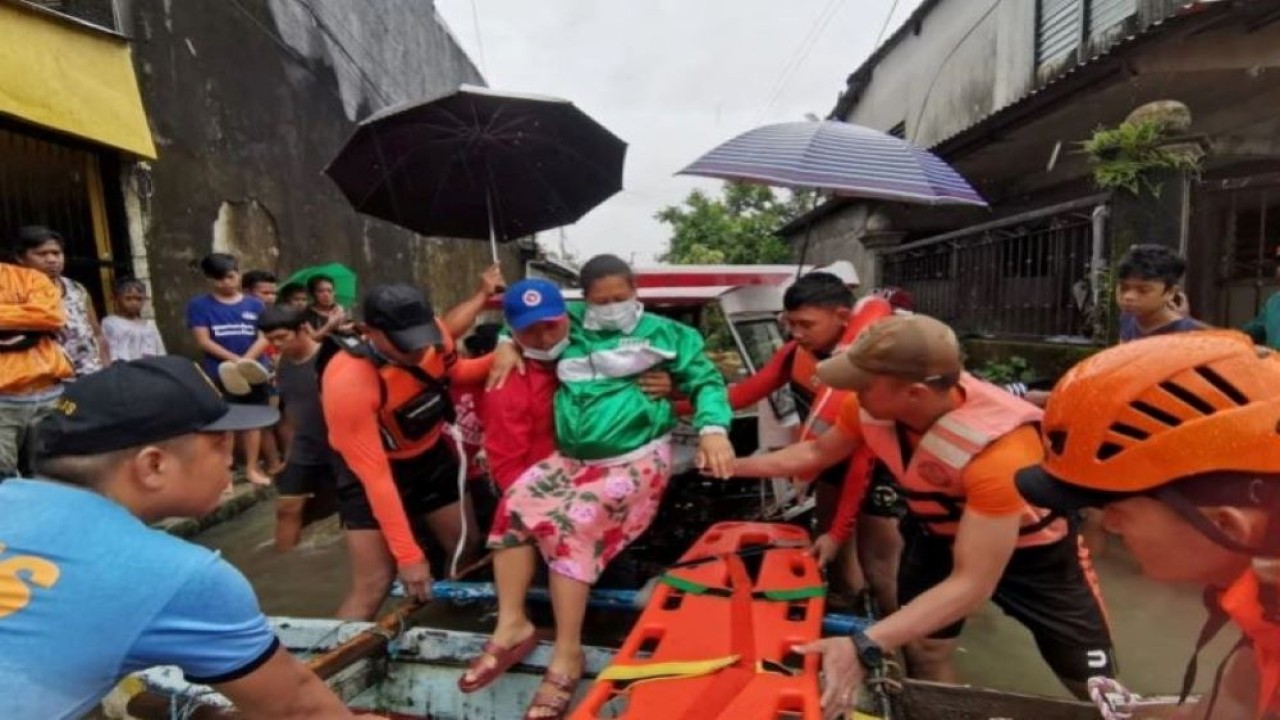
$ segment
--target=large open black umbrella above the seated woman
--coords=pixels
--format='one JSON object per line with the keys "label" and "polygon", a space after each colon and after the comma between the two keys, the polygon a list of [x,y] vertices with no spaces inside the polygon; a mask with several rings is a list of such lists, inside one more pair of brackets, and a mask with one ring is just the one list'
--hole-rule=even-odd
{"label": "large open black umbrella above the seated woman", "polygon": [[498,242],[577,222],[622,190],[627,146],[567,100],[462,86],[383,110],[325,168],[356,210]]}

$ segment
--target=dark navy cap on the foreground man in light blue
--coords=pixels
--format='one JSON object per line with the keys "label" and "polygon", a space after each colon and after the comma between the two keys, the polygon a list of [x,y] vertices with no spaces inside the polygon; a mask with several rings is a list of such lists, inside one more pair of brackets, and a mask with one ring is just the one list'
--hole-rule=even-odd
{"label": "dark navy cap on the foreground man in light blue", "polygon": [[186,357],[146,357],[69,383],[37,425],[36,457],[99,455],[191,433],[256,430],[279,419],[274,407],[228,405]]}

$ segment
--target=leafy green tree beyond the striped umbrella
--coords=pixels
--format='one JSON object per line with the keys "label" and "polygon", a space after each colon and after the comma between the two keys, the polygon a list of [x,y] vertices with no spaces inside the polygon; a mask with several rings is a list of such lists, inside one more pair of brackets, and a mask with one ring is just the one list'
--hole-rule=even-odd
{"label": "leafy green tree beyond the striped umbrella", "polygon": [[791,261],[791,247],[778,228],[810,208],[809,192],[778,197],[767,186],[724,183],[719,197],[695,190],[681,205],[655,215],[671,225],[667,252],[659,260],[675,264],[754,265]]}

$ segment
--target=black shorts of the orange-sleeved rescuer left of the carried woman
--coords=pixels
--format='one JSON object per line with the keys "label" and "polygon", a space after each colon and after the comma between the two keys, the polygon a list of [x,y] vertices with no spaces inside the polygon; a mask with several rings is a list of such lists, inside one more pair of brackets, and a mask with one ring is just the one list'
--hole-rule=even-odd
{"label": "black shorts of the orange-sleeved rescuer left of the carried woman", "polygon": [[[458,501],[458,459],[443,439],[408,460],[392,460],[392,477],[411,523]],[[349,468],[338,470],[338,514],[348,530],[376,530],[365,486]]]}

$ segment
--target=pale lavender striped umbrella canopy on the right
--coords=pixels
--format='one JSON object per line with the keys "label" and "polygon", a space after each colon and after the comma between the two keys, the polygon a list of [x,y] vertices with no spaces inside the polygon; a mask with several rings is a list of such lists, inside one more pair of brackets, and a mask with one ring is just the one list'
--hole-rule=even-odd
{"label": "pale lavender striped umbrella canopy on the right", "polygon": [[748,131],[680,174],[815,188],[846,197],[987,206],[960,173],[928,150],[836,120],[780,123]]}

